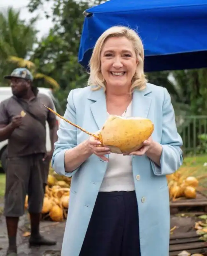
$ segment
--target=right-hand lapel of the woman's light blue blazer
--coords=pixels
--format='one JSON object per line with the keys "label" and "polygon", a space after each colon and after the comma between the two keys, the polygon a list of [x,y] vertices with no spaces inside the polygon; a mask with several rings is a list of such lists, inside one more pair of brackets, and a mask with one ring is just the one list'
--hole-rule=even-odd
{"label": "right-hand lapel of the woman's light blue blazer", "polygon": [[143,91],[134,90],[132,98],[133,117],[147,118],[151,104],[151,98],[148,96],[150,92],[151,90],[148,87]]}

